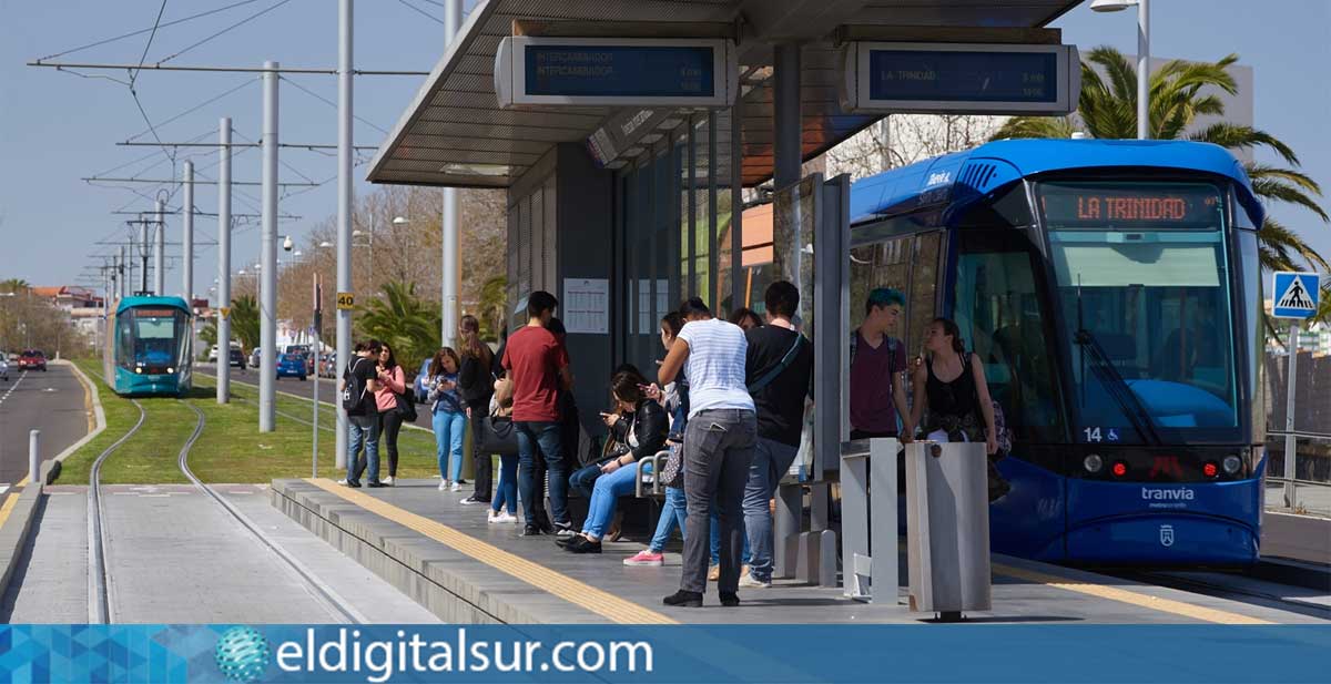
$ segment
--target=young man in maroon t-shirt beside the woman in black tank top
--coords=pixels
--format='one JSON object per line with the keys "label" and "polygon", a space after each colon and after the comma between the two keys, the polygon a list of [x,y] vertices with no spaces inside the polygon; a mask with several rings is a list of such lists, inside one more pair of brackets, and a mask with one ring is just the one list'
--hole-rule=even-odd
{"label": "young man in maroon t-shirt beside the woman in black tank top", "polygon": [[[864,302],[864,322],[851,335],[851,439],[914,434],[901,374],[906,349],[889,333],[897,330],[906,299],[890,287],[878,287]],[[901,417],[900,428],[897,417]]]}

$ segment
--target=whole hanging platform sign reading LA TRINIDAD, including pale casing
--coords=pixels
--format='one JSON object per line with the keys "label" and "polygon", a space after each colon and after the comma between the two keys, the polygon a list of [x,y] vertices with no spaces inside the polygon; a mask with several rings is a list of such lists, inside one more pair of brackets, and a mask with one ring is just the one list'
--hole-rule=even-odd
{"label": "whole hanging platform sign reading LA TRINIDAD, including pale casing", "polygon": [[848,112],[1061,116],[1081,93],[1073,45],[853,41],[841,67]]}

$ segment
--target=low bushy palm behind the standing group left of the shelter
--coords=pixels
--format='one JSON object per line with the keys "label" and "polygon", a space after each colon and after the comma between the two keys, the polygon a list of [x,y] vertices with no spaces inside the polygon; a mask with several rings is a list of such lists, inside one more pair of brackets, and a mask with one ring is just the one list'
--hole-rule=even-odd
{"label": "low bushy palm behind the standing group left of the shelter", "polygon": [[357,326],[362,335],[387,342],[398,363],[415,370],[437,349],[439,310],[417,295],[414,282],[389,282],[382,297],[359,307]]}

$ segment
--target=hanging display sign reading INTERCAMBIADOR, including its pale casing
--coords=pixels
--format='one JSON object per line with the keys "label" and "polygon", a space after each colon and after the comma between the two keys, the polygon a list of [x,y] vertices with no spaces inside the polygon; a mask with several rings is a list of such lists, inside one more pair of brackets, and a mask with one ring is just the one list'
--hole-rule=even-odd
{"label": "hanging display sign reading INTERCAMBIADOR, including its pale casing", "polygon": [[724,106],[737,71],[729,40],[510,36],[495,94],[500,106]]}

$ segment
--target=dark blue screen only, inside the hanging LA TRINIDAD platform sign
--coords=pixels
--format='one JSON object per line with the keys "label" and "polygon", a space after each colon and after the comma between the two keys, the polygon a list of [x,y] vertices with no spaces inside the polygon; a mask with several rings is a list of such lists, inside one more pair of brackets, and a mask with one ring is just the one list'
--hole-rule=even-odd
{"label": "dark blue screen only, inside the hanging LA TRINIDAD platform sign", "polygon": [[1050,52],[869,52],[873,100],[1053,102],[1057,79]]}

